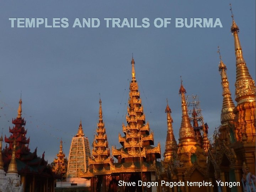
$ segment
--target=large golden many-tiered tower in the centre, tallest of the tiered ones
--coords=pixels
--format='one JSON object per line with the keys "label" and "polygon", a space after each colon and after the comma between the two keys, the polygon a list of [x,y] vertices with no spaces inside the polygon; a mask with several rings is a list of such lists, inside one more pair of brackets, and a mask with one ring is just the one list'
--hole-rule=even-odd
{"label": "large golden many-tiered tower in the centre, tallest of the tiered ones", "polygon": [[[119,171],[119,180],[150,182],[151,172],[155,171],[155,161],[160,158],[160,143],[156,147],[151,146],[154,145],[154,134],[150,132],[149,123],[145,122],[138,83],[135,78],[133,58],[131,64],[132,81],[130,82],[129,106],[127,107],[127,125],[123,124],[124,137],[121,134],[118,136],[122,148],[116,149],[112,146],[112,155],[118,160],[118,164],[122,168]],[[143,177],[141,177],[142,173]],[[121,187],[120,190],[125,189]],[[140,190],[142,189],[137,187],[137,191]],[[151,188],[146,190],[151,191]]]}

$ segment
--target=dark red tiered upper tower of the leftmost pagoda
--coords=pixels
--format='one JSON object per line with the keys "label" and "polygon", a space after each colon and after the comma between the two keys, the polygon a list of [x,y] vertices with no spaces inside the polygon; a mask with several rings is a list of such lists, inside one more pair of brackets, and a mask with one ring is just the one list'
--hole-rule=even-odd
{"label": "dark red tiered upper tower of the leftmost pagoda", "polygon": [[21,155],[29,154],[30,149],[28,148],[28,144],[30,142],[30,138],[26,138],[27,130],[25,130],[24,126],[26,125],[26,121],[21,117],[22,108],[21,108],[22,100],[19,101],[18,106],[18,115],[17,118],[12,119],[12,124],[15,126],[12,129],[9,127],[9,132],[11,133],[10,137],[7,138],[5,136],[5,143],[9,144],[9,147],[6,150],[6,155],[11,158],[13,142],[16,140],[16,157],[21,158]]}

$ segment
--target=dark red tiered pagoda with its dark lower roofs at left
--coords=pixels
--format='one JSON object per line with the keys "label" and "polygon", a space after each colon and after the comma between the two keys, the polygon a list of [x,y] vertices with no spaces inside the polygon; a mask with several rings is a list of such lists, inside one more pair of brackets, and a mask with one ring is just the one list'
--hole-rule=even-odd
{"label": "dark red tiered pagoda with its dark lower roofs at left", "polygon": [[6,144],[2,152],[4,170],[7,172],[6,175],[15,179],[18,178],[17,175],[20,175],[24,192],[39,190],[53,192],[55,175],[47,167],[48,162],[44,160],[44,153],[41,158],[37,156],[37,148],[33,153],[28,148],[30,139],[26,139],[27,130],[24,128],[26,121],[21,116],[21,105],[22,100],[20,99],[17,118],[12,120],[15,126],[12,129],[9,127],[10,137],[5,136],[5,142],[9,146],[7,147]]}

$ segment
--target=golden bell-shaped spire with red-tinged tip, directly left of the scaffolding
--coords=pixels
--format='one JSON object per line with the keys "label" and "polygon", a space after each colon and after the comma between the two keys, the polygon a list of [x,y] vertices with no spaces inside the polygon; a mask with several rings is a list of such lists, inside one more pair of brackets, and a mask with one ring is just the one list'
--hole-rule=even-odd
{"label": "golden bell-shaped spire with red-tinged tip, directly left of the scaffolding", "polygon": [[182,85],[181,80],[181,87],[180,87],[180,94],[181,94],[181,106],[182,106],[182,120],[181,120],[181,128],[179,132],[179,141],[180,143],[183,142],[195,142],[195,134],[194,129],[190,124],[190,119],[188,118],[187,114],[187,103],[185,99],[186,90]]}

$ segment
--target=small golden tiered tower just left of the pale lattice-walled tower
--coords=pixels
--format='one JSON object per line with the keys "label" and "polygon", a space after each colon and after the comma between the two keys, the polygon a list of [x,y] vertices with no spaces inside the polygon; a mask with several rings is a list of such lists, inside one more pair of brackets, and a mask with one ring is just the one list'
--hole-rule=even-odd
{"label": "small golden tiered tower just left of the pale lattice-walled tower", "polygon": [[67,162],[68,160],[65,158],[65,153],[63,153],[62,150],[62,139],[60,140],[60,150],[57,154],[57,159],[54,158],[54,167],[52,169],[53,172],[55,172],[57,175],[65,179],[66,178],[66,170],[67,170]]}

